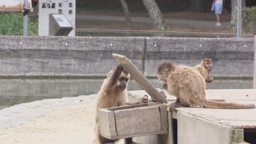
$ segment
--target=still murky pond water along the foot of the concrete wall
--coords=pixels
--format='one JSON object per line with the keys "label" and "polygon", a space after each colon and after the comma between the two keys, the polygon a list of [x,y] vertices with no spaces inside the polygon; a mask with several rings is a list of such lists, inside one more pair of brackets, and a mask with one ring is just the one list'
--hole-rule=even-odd
{"label": "still murky pond water along the foot of the concrete wall", "polygon": [[[96,94],[103,79],[1,79],[0,109],[20,103],[42,99],[77,97]],[[162,82],[149,79],[162,89]],[[252,89],[253,80],[214,80],[208,83],[208,89]],[[130,80],[128,90],[142,90],[135,80]]]}

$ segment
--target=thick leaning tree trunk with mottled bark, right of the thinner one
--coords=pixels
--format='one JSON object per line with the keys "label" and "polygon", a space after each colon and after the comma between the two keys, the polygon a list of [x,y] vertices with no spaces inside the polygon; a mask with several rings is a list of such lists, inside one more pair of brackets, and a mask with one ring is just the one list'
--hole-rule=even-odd
{"label": "thick leaning tree trunk with mottled bark, right of the thinner one", "polygon": [[142,0],[145,8],[147,9],[153,26],[157,30],[165,30],[167,25],[164,17],[155,0]]}

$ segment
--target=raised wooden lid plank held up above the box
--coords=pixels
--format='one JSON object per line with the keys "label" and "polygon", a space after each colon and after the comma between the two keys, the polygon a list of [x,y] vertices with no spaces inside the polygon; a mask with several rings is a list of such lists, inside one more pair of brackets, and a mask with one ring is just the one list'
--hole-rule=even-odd
{"label": "raised wooden lid plank held up above the box", "polygon": [[151,96],[151,98],[160,103],[167,103],[164,96],[155,88],[155,86],[138,70],[137,67],[123,55],[113,53],[112,56],[130,73],[136,82]]}

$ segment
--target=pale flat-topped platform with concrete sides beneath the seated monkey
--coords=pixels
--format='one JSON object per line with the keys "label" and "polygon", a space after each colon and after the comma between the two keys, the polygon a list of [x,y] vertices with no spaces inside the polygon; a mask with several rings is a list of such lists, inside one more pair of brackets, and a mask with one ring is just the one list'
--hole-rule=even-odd
{"label": "pale flat-topped platform with concrete sides beneath the seated monkey", "polygon": [[[142,97],[145,94],[147,94],[145,91],[129,91],[132,98]],[[174,96],[166,95],[168,103],[172,103],[176,99]],[[256,105],[255,89],[206,90],[206,95],[207,99]],[[169,116],[171,116],[169,118],[169,134],[165,136],[168,144],[256,143],[256,109],[177,108],[177,113],[170,112]],[[171,132],[173,133],[171,134]],[[138,142],[144,143],[145,139],[153,139],[155,144],[160,144],[154,136],[136,138]]]}

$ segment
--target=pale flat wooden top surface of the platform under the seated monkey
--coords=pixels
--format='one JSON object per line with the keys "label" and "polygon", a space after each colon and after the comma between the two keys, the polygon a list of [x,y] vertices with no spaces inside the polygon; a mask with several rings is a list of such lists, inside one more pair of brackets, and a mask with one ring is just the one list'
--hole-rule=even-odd
{"label": "pale flat wooden top surface of the platform under the seated monkey", "polygon": [[[130,95],[143,96],[145,91],[129,91]],[[166,94],[168,104],[174,102],[175,96]],[[256,89],[215,89],[206,90],[207,99],[219,99],[237,103],[254,103],[256,105]],[[182,111],[205,120],[231,126],[232,128],[253,128],[256,130],[256,109],[206,109],[178,108]],[[176,118],[176,114],[173,114]]]}

